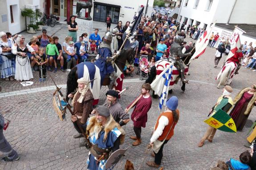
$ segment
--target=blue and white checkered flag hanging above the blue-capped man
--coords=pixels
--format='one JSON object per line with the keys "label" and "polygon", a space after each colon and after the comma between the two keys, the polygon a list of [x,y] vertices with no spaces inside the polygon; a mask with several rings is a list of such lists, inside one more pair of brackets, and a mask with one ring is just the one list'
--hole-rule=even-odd
{"label": "blue and white checkered flag hanging above the blue-capped man", "polygon": [[162,107],[165,106],[166,101],[167,101],[169,85],[170,85],[170,82],[171,82],[172,67],[173,67],[173,64],[171,64],[171,66],[169,68],[167,68],[167,70],[165,70],[164,74],[161,76],[161,79],[162,80],[164,79],[165,82],[164,82],[162,94],[159,97],[159,109],[160,109],[160,111],[162,110]]}

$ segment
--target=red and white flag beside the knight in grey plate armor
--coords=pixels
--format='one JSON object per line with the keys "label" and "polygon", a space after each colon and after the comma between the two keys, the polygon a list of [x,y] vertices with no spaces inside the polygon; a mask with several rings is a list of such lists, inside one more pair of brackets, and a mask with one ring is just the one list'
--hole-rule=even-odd
{"label": "red and white flag beside the knight in grey plate armor", "polygon": [[202,36],[199,37],[199,39],[195,43],[195,53],[191,57],[191,59],[197,59],[200,55],[202,55],[207,47],[207,44],[209,42],[209,39],[211,37],[212,29],[215,26],[216,21],[211,24],[210,27],[207,27],[206,31],[203,33]]}

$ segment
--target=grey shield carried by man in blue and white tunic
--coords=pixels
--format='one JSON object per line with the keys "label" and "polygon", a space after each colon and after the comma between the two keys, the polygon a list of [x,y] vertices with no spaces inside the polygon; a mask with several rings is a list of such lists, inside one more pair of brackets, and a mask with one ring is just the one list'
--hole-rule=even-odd
{"label": "grey shield carried by man in blue and white tunic", "polygon": [[114,151],[113,154],[110,155],[108,158],[106,165],[105,165],[105,170],[114,170],[114,166],[118,163],[118,161],[122,158],[122,156],[125,154],[126,149],[118,149]]}

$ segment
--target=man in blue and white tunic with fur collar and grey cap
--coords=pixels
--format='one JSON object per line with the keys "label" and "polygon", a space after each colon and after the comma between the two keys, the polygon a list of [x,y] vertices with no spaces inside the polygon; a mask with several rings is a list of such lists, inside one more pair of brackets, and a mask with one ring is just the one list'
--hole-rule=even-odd
{"label": "man in blue and white tunic with fur collar and grey cap", "polygon": [[98,106],[89,118],[86,130],[89,132],[91,149],[87,159],[88,170],[105,170],[110,154],[123,144],[125,132],[110,115],[106,106]]}

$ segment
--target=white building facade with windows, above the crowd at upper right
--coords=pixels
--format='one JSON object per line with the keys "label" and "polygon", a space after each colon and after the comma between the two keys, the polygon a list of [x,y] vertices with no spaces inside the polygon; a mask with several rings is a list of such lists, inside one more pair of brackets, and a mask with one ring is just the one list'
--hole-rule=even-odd
{"label": "white building facade with windows, above the crowd at upper right", "polygon": [[[223,0],[221,0],[222,2]],[[206,11],[207,0],[199,0],[198,7],[195,9],[196,0],[188,0],[187,7],[182,3],[180,16],[182,16],[181,23],[184,21],[184,17],[199,21],[201,24],[199,27],[203,28],[204,24],[211,24],[215,19],[215,11],[218,7],[219,0],[213,0],[210,11]],[[222,13],[223,15],[223,13]],[[190,23],[188,23],[190,24]]]}

